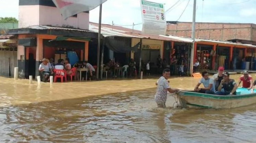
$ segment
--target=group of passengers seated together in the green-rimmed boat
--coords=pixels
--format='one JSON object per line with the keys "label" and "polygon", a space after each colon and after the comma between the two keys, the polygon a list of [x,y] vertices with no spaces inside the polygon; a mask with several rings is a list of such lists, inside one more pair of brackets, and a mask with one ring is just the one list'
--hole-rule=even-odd
{"label": "group of passengers seated together in the green-rimmed boat", "polygon": [[[255,84],[253,84],[253,78],[249,75],[248,70],[243,71],[243,76],[239,78],[239,84],[237,85],[234,79],[230,79],[230,74],[224,72],[224,67],[219,67],[218,73],[213,77],[209,77],[208,72],[202,72],[202,78],[195,86],[194,91],[216,95],[236,95],[236,89],[240,86],[241,82],[243,82],[242,88],[253,92],[256,80]],[[203,84],[204,88],[199,88],[200,84]]]}

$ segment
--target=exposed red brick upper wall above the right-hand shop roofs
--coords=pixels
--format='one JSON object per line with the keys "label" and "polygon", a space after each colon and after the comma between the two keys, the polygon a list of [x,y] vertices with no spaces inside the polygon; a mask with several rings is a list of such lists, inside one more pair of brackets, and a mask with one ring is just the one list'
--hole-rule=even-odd
{"label": "exposed red brick upper wall above the right-hand shop roofs", "polygon": [[[256,25],[253,32],[252,24],[244,23],[196,23],[196,38],[224,40],[244,39],[251,40],[251,36],[256,41]],[[168,25],[167,34],[191,37],[191,22],[177,22]],[[251,35],[253,34],[253,35]]]}

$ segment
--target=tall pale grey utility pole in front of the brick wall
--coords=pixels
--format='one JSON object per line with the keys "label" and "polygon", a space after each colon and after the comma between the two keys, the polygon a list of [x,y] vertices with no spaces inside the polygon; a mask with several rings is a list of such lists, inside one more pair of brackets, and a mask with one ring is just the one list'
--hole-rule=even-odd
{"label": "tall pale grey utility pole in front of the brick wall", "polygon": [[193,22],[192,22],[192,48],[190,53],[190,75],[193,74],[193,65],[194,65],[194,51],[195,51],[195,25],[196,25],[196,0],[194,0],[194,7],[193,7]]}

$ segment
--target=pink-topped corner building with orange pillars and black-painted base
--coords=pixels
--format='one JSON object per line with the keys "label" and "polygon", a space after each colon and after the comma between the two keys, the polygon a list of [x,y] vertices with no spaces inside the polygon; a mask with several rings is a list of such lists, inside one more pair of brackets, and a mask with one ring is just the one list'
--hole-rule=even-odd
{"label": "pink-topped corner building with orange pillars and black-painted base", "polygon": [[[52,0],[20,0],[19,29],[9,34],[19,35],[17,60],[19,77],[38,75],[43,58],[69,57],[75,51],[76,61],[88,61],[89,41],[97,33],[89,31],[89,12],[83,12],[64,20]],[[68,37],[67,37],[68,36]]]}

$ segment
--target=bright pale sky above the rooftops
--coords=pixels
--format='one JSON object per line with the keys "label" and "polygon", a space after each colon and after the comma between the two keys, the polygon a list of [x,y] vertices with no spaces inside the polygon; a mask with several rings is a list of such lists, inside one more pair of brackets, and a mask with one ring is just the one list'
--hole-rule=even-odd
{"label": "bright pale sky above the rooftops", "polygon": [[[167,21],[192,21],[194,0],[149,1],[165,4],[165,10],[178,2],[166,13]],[[256,0],[196,1],[196,22],[256,23]],[[182,14],[183,11],[184,13]],[[18,18],[19,0],[0,0],[0,17]],[[89,17],[91,22],[98,23],[99,7],[90,11]],[[133,25],[134,23],[134,29],[141,30],[142,25],[140,23],[142,23],[142,16],[140,0],[108,0],[103,3],[102,23],[112,25],[112,21],[114,25]],[[132,28],[132,26],[124,27]]]}

